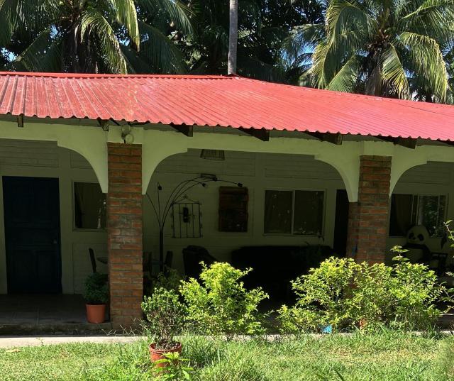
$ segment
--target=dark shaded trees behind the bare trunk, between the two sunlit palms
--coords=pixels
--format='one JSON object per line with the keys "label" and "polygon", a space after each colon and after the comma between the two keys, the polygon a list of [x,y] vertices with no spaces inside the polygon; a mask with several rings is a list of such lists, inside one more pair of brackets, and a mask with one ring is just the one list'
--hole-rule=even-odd
{"label": "dark shaded trees behind the bare trunk, between the two sunlit palms", "polygon": [[[194,74],[228,71],[229,0],[185,0],[193,11],[195,33],[184,53]],[[292,0],[293,1],[293,0]],[[292,82],[298,70],[284,65],[282,40],[294,26],[321,18],[314,0],[238,0],[236,72],[274,82]],[[318,16],[316,16],[316,14]]]}

